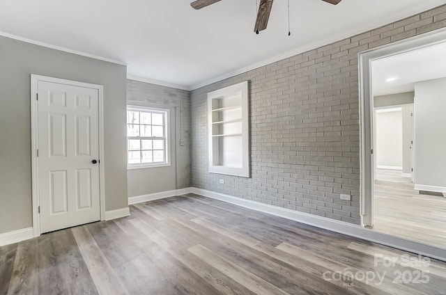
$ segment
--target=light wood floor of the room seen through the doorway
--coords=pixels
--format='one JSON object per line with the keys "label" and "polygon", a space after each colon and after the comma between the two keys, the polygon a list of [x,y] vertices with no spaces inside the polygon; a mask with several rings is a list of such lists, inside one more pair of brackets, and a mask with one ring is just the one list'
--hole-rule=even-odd
{"label": "light wood floor of the room seen through the doorway", "polygon": [[374,230],[446,248],[446,198],[420,194],[399,170],[377,174]]}

